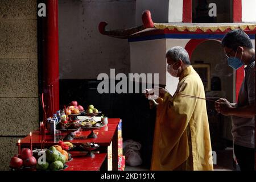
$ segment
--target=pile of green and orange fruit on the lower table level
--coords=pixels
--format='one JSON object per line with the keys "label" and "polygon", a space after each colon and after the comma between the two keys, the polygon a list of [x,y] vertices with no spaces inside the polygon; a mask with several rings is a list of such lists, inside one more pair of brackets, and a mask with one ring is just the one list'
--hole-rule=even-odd
{"label": "pile of green and orange fruit on the lower table level", "polygon": [[49,147],[46,151],[46,161],[38,162],[36,168],[39,170],[59,171],[64,168],[68,160],[68,152],[63,150],[61,146],[55,145]]}

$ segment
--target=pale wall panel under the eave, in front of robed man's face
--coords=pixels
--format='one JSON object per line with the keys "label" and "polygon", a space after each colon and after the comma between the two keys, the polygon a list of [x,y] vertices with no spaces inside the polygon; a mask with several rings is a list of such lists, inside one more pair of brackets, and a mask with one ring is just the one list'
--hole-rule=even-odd
{"label": "pale wall panel under the eave, in front of robed man's face", "polygon": [[130,42],[131,73],[159,73],[166,84],[166,39]]}

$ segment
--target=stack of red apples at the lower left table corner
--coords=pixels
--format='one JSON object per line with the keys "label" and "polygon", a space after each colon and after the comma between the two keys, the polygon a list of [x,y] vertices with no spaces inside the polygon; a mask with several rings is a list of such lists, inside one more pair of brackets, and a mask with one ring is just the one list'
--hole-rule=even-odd
{"label": "stack of red apples at the lower left table corner", "polygon": [[11,169],[34,168],[36,166],[36,158],[32,156],[32,151],[29,148],[22,148],[19,155],[11,158]]}

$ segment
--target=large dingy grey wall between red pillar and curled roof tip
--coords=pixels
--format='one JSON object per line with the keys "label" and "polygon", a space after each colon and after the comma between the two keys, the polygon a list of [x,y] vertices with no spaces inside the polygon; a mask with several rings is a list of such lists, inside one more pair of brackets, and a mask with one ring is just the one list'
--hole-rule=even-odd
{"label": "large dingy grey wall between red pillar and curled roof tip", "polygon": [[99,73],[130,72],[127,39],[101,35],[98,23],[107,29],[135,26],[135,1],[59,0],[60,78],[95,79]]}

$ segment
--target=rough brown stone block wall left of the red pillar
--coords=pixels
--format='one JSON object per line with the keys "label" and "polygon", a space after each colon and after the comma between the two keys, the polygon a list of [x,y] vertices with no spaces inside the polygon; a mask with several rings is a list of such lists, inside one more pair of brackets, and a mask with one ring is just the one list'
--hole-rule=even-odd
{"label": "rough brown stone block wall left of the red pillar", "polygon": [[36,0],[0,0],[0,170],[38,127]]}

